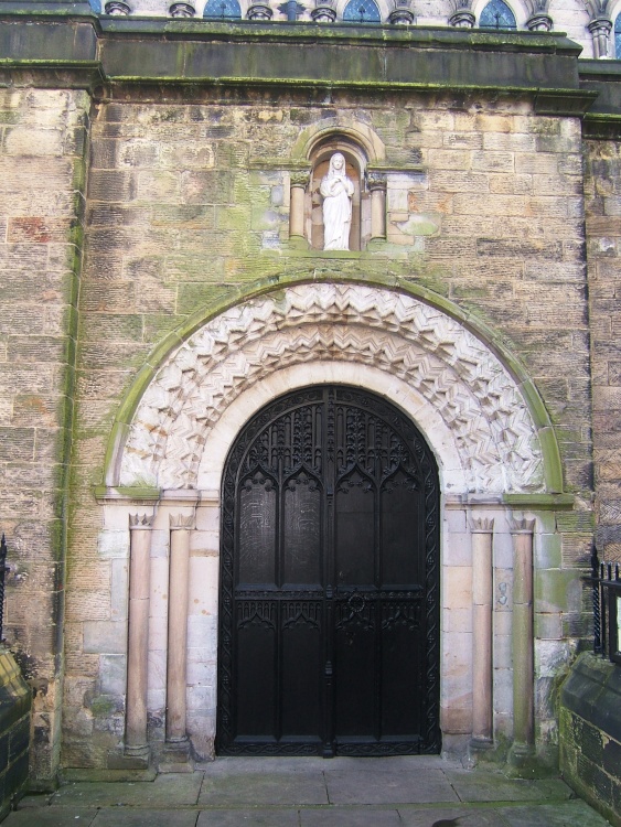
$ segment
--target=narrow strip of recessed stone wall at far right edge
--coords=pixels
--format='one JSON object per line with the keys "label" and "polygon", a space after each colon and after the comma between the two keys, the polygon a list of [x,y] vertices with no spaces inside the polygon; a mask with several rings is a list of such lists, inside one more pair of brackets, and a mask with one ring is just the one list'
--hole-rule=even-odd
{"label": "narrow strip of recessed stone wall at far right edge", "polygon": [[621,146],[585,152],[598,549],[621,560]]}

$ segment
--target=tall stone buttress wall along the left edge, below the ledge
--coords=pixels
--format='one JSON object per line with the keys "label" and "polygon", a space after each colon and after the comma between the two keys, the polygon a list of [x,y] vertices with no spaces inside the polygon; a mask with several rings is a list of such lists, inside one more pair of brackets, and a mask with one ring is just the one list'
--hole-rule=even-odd
{"label": "tall stone buttress wall along the left edge, below the ledge", "polygon": [[0,529],[6,636],[35,689],[33,778],[60,754],[66,471],[89,99],[0,89]]}

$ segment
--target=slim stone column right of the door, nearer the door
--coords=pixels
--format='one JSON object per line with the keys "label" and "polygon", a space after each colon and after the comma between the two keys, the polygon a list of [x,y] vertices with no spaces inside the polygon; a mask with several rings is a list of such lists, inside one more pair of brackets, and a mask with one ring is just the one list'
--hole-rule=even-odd
{"label": "slim stone column right of the door, nearer the door", "polygon": [[493,519],[474,519],[472,531],[472,739],[470,750],[493,745],[492,604]]}

